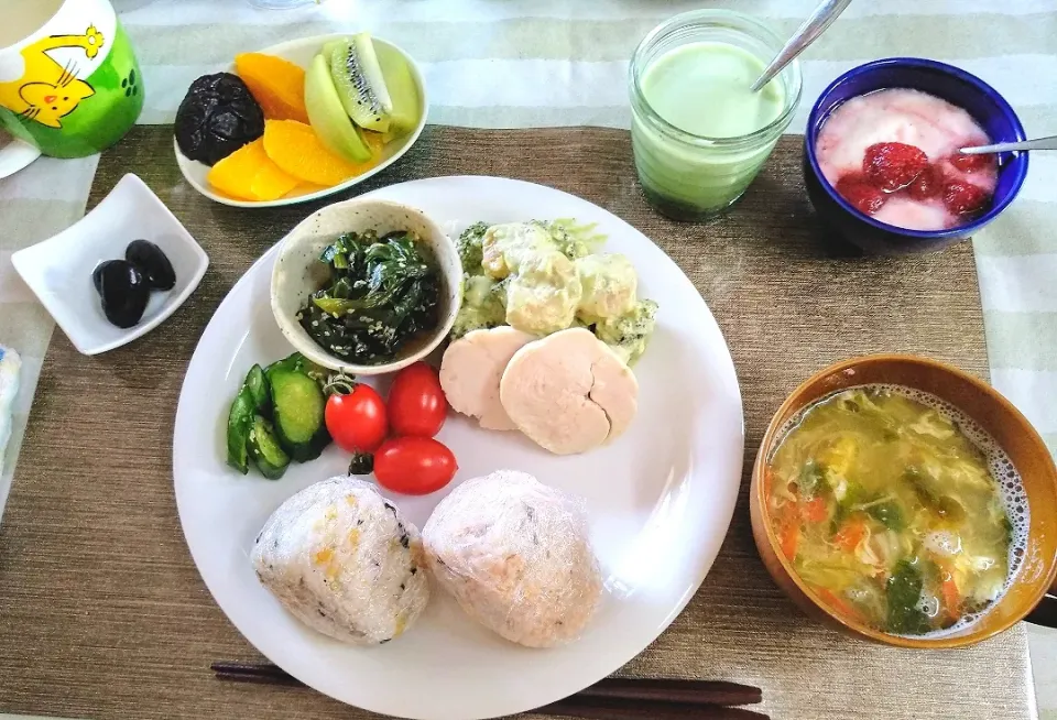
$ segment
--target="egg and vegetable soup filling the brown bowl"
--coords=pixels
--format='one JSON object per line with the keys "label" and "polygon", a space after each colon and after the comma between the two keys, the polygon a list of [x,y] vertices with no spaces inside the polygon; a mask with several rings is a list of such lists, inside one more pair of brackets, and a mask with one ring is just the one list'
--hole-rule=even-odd
{"label": "egg and vegetable soup filling the brown bowl", "polygon": [[886,386],[841,391],[795,418],[769,465],[782,552],[838,612],[914,635],[1001,594],[1013,526],[999,483],[934,407]]}

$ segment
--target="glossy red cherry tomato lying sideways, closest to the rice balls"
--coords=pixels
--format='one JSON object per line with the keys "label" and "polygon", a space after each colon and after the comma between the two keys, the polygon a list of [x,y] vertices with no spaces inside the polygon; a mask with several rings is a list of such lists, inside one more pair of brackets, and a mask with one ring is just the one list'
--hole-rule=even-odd
{"label": "glossy red cherry tomato lying sideways, closest to the rice balls", "polygon": [[374,452],[378,484],[405,495],[425,495],[451,482],[455,455],[432,437],[396,437]]}

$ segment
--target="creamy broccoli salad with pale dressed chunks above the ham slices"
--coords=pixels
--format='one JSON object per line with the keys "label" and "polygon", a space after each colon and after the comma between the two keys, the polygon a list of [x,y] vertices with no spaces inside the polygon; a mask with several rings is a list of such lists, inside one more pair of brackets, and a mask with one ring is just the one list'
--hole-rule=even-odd
{"label": "creamy broccoli salad with pale dressed chunks above the ham slices", "polygon": [[501,325],[541,336],[586,327],[633,364],[656,327],[657,304],[638,297],[630,260],[601,252],[604,241],[574,219],[471,225],[456,243],[462,304],[451,338]]}

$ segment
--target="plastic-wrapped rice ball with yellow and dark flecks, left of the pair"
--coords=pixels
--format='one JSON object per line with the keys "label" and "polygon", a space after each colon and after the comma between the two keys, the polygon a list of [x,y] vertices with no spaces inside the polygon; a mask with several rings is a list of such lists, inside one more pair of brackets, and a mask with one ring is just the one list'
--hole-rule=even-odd
{"label": "plastic-wrapped rice ball with yellow and dark flecks, left of the pair", "polygon": [[286,500],[250,559],[294,617],[356,645],[399,637],[429,600],[418,530],[356,478],[330,478]]}

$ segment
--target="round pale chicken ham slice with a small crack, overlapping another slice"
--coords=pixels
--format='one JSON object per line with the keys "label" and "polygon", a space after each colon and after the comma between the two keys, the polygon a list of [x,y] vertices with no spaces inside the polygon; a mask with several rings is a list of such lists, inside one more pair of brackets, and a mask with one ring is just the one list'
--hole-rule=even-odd
{"label": "round pale chicken ham slice with a small crack, overlapping another slice", "polygon": [[590,330],[573,328],[517,350],[499,396],[517,429],[556,455],[574,455],[628,429],[639,383]]}

